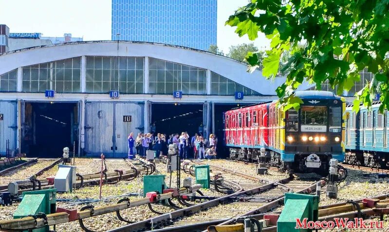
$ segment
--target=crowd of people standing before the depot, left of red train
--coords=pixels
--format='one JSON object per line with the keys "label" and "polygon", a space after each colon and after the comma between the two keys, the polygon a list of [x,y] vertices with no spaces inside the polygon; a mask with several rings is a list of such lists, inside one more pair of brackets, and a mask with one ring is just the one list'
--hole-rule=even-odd
{"label": "crowd of people standing before the depot, left of red train", "polygon": [[176,144],[179,149],[181,159],[216,159],[216,146],[218,139],[214,134],[209,135],[209,139],[197,133],[190,137],[187,132],[169,135],[158,133],[139,133],[134,138],[134,133],[128,137],[129,153],[128,158],[134,159],[135,154],[146,156],[148,150],[155,151],[157,157],[167,155],[169,144]]}

